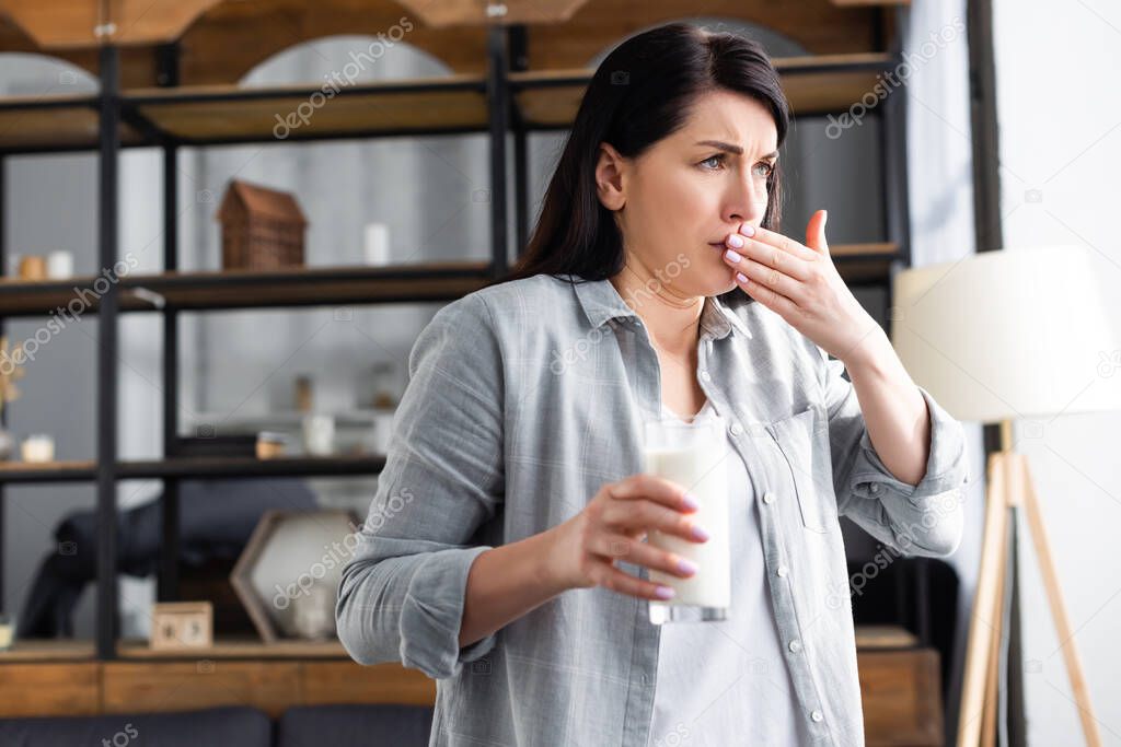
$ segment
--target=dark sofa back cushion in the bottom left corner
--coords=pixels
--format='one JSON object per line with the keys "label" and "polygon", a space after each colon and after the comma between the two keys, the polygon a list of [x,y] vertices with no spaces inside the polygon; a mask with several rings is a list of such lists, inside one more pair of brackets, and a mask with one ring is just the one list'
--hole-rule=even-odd
{"label": "dark sofa back cushion in the bottom left corner", "polygon": [[271,747],[271,744],[272,723],[256,708],[0,719],[0,745],[4,747]]}

